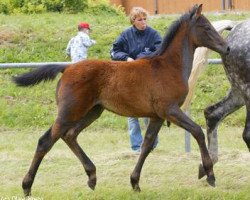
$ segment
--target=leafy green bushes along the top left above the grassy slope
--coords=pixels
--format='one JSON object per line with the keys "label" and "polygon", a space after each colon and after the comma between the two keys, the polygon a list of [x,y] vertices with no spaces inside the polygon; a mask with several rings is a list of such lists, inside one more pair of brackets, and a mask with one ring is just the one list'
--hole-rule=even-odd
{"label": "leafy green bushes along the top left above the grassy slope", "polygon": [[2,0],[0,2],[0,13],[3,14],[31,14],[46,11],[124,15],[122,7],[111,6],[108,0]]}

